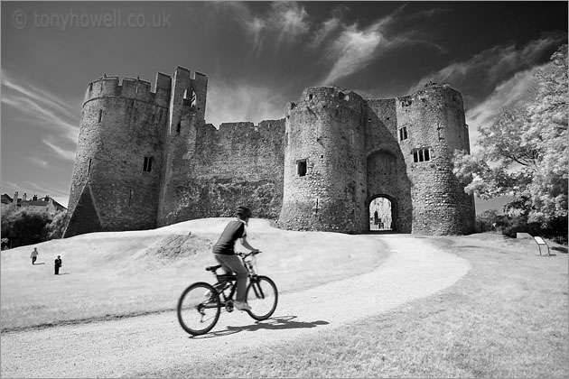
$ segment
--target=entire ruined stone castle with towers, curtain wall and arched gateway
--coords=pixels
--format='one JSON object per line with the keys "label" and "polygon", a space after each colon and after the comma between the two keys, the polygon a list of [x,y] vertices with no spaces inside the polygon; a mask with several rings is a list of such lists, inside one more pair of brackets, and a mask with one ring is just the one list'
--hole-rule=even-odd
{"label": "entire ruined stone castle with towers, curtain wall and arched gateway", "polygon": [[207,82],[178,67],[155,92],[140,79],[89,83],[65,236],[229,217],[237,204],[285,229],[360,233],[378,198],[395,231],[473,232],[473,198],[452,174],[468,128],[448,85],[391,99],[306,88],[284,119],[216,129]]}

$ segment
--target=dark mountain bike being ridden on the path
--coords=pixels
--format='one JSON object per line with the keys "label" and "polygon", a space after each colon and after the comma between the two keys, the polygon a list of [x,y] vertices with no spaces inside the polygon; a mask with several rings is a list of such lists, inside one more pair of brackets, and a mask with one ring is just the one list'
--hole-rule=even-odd
{"label": "dark mountain bike being ridden on the path", "polygon": [[[257,321],[268,319],[273,315],[278,302],[278,291],[275,282],[264,275],[257,275],[255,269],[255,253],[238,253],[243,265],[247,268],[249,283],[247,284],[246,299],[251,307],[247,310],[249,316]],[[192,336],[208,333],[219,320],[221,308],[229,313],[234,310],[233,296],[237,290],[237,276],[234,274],[219,274],[221,264],[206,267],[217,282],[195,282],[186,288],[178,300],[178,321],[182,328]]]}

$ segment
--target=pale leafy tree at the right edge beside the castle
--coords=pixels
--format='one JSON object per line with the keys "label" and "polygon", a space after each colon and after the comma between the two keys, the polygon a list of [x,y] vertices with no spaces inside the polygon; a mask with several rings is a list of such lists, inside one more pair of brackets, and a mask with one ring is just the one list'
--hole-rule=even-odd
{"label": "pale leafy tree at the right edge beside the castle", "polygon": [[513,196],[528,222],[549,226],[567,218],[567,45],[516,106],[503,108],[494,123],[480,127],[480,150],[455,153],[454,173],[481,199]]}

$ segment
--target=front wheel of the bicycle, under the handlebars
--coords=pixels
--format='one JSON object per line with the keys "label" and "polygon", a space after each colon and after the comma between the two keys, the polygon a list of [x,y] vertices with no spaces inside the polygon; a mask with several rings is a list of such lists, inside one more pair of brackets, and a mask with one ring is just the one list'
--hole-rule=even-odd
{"label": "front wheel of the bicycle, under the handlebars", "polygon": [[251,307],[248,311],[253,319],[268,319],[276,310],[278,291],[275,282],[266,276],[252,278],[247,287],[247,304]]}

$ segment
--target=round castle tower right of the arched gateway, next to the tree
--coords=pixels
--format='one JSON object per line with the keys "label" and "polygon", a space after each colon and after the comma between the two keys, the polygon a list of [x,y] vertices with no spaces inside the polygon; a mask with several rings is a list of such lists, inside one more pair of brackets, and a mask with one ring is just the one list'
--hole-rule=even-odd
{"label": "round castle tower right of the arched gateway, next to the tree", "polygon": [[470,153],[462,94],[432,85],[396,99],[401,150],[411,180],[412,233],[462,235],[474,231],[474,199],[452,173],[455,150]]}

